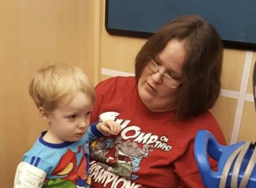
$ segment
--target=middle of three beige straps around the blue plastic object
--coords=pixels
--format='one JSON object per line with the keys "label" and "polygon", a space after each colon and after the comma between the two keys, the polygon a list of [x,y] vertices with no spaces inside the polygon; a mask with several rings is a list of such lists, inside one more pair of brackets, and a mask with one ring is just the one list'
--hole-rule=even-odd
{"label": "middle of three beige straps around the blue plastic object", "polygon": [[232,177],[231,177],[231,187],[234,187],[234,188],[238,187],[237,183],[238,183],[239,171],[240,171],[242,162],[244,160],[244,155],[246,154],[248,148],[250,147],[250,144],[251,144],[251,142],[249,142],[249,141],[245,142],[241,152],[239,153],[239,155],[236,158],[236,162],[235,162],[233,172],[232,172]]}

